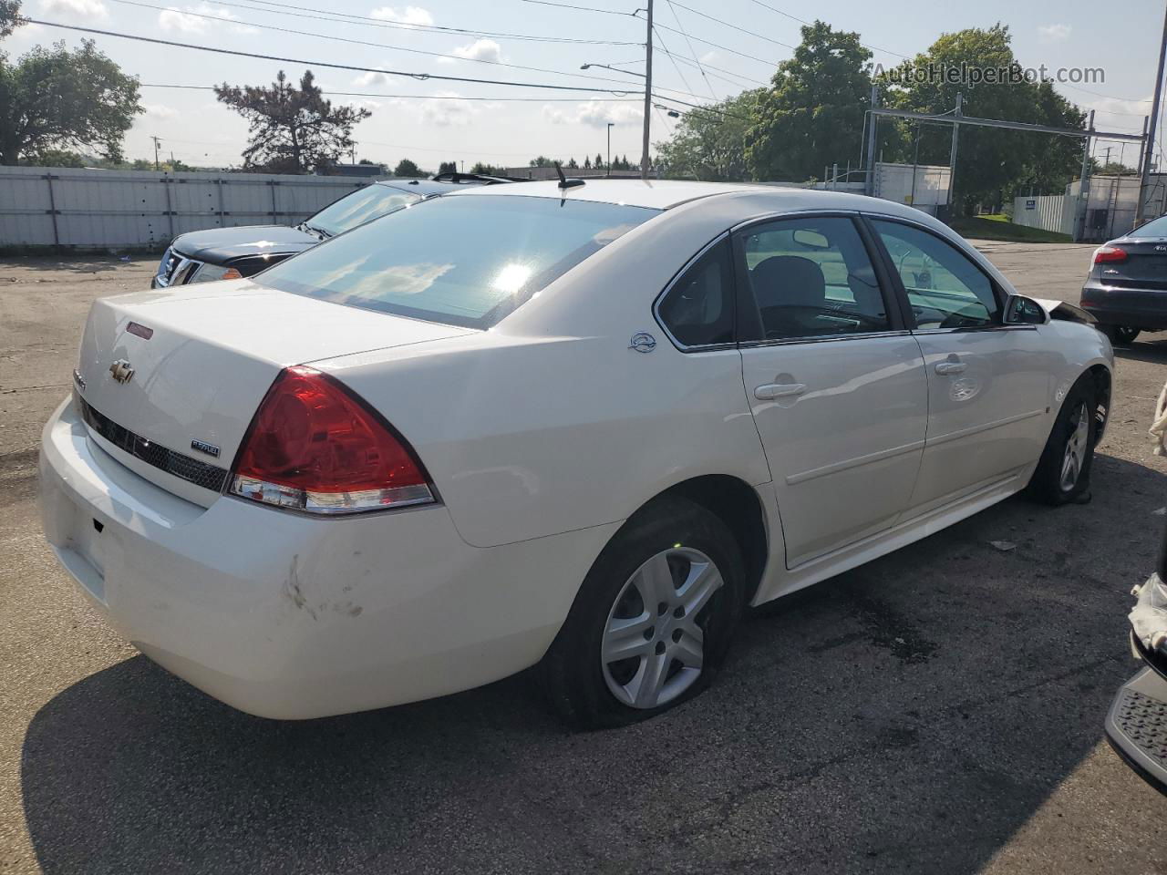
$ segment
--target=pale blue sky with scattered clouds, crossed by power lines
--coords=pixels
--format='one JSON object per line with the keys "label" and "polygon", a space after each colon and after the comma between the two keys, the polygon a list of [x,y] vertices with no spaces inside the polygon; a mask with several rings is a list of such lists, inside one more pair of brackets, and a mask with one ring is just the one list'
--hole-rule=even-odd
{"label": "pale blue sky with scattered clouds, crossed by power lines", "polygon": [[[216,103],[214,92],[201,89],[223,82],[264,84],[281,69],[299,78],[305,68],[314,71],[334,102],[372,112],[355,130],[358,159],[392,167],[408,158],[428,169],[450,160],[464,162],[467,168],[475,161],[525,166],[540,154],[575,158],[582,163],[585,155],[594,159],[607,153],[608,123],[614,123],[613,155],[638,159],[643,106],[635,90],[643,85],[635,74],[644,68],[645,23],[630,14],[637,0],[627,5],[621,0],[557,0],[612,14],[532,0],[390,2],[25,0],[22,13],[46,22],[312,62],[233,57],[93,36],[99,49],[144,84],[146,112],[135,119],[125,141],[131,159],[153,158],[151,136],[155,135],[161,139],[163,156],[173,153],[193,164],[240,163],[246,124]],[[654,91],[700,104],[766,83],[801,40],[796,19],[818,18],[836,28],[858,32],[873,48],[873,61],[885,66],[895,65],[900,56],[925,50],[943,33],[1001,22],[1009,27],[1014,52],[1026,66],[1103,68],[1104,82],[1057,89],[1083,108],[1095,110],[1096,127],[1138,133],[1142,117],[1151,111],[1163,4],[1124,4],[1121,26],[1112,32],[1099,24],[1104,13],[1098,5],[1083,0],[1056,5],[979,0],[906,8],[869,0],[818,0],[812,12],[792,0],[655,0],[657,44],[672,57],[656,52]],[[0,50],[19,56],[32,46],[57,40],[76,46],[84,36],[26,24],[0,41]],[[326,68],[322,63],[369,70]],[[582,64],[609,64],[628,72],[596,66],[585,71]],[[428,74],[431,78],[378,70]],[[605,91],[512,88],[433,78],[436,76]],[[630,91],[610,93],[622,89]],[[676,123],[654,110],[652,140],[668,139]],[[1160,139],[1167,141],[1167,136]],[[1099,142],[1095,154],[1103,156],[1107,146],[1113,159],[1121,155],[1127,164],[1135,162],[1132,144]],[[834,158],[843,163],[851,156]]]}

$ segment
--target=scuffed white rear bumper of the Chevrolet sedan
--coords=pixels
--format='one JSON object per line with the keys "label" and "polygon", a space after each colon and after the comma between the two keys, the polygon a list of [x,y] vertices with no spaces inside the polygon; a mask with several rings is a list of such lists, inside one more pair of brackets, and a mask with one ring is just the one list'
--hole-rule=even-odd
{"label": "scuffed white rear bumper of the Chevrolet sedan", "polygon": [[70,402],[41,449],[46,537],[105,618],[212,696],[267,718],[378,708],[538,662],[616,526],[489,550],[443,506],[314,519],[142,480]]}

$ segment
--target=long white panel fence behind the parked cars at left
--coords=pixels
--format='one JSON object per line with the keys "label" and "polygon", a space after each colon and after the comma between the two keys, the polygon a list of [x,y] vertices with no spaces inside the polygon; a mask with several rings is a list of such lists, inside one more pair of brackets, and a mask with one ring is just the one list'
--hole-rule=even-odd
{"label": "long white panel fence behind the parked cars at left", "polygon": [[230,225],[294,225],[369,184],[340,176],[0,167],[0,246],[163,246]]}

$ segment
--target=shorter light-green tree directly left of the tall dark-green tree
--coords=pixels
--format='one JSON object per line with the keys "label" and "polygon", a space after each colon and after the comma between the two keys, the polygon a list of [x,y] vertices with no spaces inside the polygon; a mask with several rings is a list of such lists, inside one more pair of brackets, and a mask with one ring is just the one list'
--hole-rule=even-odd
{"label": "shorter light-green tree directly left of the tall dark-green tree", "polygon": [[750,178],[746,133],[753,125],[760,94],[760,90],[746,91],[682,116],[672,136],[654,144],[656,164],[664,176],[707,182]]}

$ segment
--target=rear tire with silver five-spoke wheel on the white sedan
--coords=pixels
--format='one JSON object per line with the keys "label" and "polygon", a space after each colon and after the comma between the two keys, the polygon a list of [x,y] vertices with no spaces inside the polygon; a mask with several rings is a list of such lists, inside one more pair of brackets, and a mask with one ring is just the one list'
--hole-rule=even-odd
{"label": "rear tire with silver five-spoke wheel on the white sedan", "polygon": [[665,498],[637,512],[588,572],[539,665],[572,727],[655,716],[710,685],[745,604],[736,539],[708,510]]}

